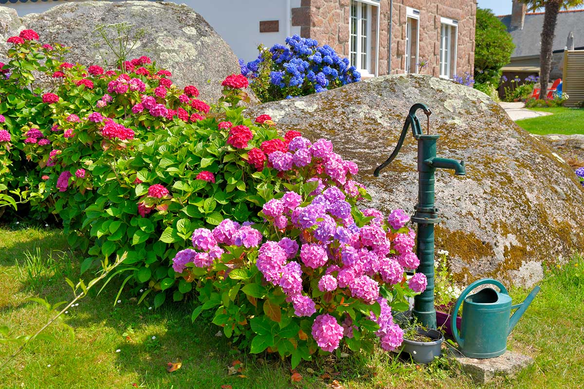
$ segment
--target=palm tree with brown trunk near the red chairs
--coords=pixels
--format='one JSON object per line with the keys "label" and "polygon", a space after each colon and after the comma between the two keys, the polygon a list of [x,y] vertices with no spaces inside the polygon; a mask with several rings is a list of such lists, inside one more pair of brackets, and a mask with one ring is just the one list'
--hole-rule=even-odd
{"label": "palm tree with brown trunk near the red chairs", "polygon": [[540,99],[547,96],[547,83],[550,80],[552,45],[554,43],[555,23],[560,9],[576,8],[584,5],[584,0],[520,0],[529,10],[544,8],[544,24],[541,29],[540,54]]}

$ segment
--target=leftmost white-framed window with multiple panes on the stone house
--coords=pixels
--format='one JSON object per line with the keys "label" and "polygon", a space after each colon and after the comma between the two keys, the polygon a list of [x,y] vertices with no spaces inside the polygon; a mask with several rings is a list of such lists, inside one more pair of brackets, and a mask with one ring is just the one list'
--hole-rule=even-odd
{"label": "leftmost white-framed window with multiple panes on the stone house", "polygon": [[361,73],[377,72],[379,6],[376,0],[350,2],[349,61]]}

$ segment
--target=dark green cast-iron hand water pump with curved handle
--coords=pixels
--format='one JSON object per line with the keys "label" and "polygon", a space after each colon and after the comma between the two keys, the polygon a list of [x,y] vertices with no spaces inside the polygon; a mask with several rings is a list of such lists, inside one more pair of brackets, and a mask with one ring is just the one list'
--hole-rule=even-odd
{"label": "dark green cast-iron hand water pump with curved handle", "polygon": [[416,254],[420,260],[418,271],[426,275],[428,285],[426,290],[414,298],[413,314],[420,323],[428,328],[436,328],[436,310],[434,310],[434,224],[440,222],[437,216],[438,209],[434,206],[434,172],[436,169],[454,169],[457,176],[464,176],[466,170],[464,162],[454,159],[436,157],[436,139],[440,135],[422,134],[420,121],[416,111],[422,110],[426,114],[428,131],[430,114],[432,112],[425,104],[414,104],[406,117],[404,128],[399,135],[398,144],[390,157],[375,169],[373,175],[379,177],[384,167],[394,160],[404,144],[408,128],[412,127],[412,135],[418,141],[418,204],[412,222],[418,223],[416,237]]}

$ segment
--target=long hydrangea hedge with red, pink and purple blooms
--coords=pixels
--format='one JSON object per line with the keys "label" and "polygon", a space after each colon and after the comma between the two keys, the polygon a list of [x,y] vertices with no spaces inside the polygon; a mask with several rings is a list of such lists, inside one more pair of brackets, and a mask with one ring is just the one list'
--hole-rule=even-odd
{"label": "long hydrangea hedge with red, pink and purple blooms", "polygon": [[61,218],[88,254],[82,271],[125,254],[115,275],[140,302],[196,291],[193,320],[213,309],[225,335],[294,366],[343,342],[401,344],[392,310],[426,287],[423,274],[405,278],[419,264],[409,218],[361,211],[357,165],[330,141],[244,117],[243,75],[209,105],[148,57],[85,67],[37,40],[11,37],[0,66],[0,184]]}

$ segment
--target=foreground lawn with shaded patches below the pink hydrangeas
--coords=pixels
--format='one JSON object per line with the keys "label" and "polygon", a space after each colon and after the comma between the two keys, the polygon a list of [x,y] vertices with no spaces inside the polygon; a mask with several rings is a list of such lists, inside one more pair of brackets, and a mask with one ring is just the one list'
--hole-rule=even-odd
{"label": "foreground lawn with shaded patches below the pink hydrangeas", "polygon": [[[77,274],[79,259],[68,251],[58,230],[0,228],[0,325],[8,325],[15,335],[31,334],[43,325],[48,312],[26,297],[43,296],[50,302],[69,298],[71,290],[62,279]],[[499,379],[486,387],[584,387],[583,268],[584,260],[575,256],[547,272],[542,291],[509,341],[510,348],[533,356],[536,363],[516,379]],[[302,363],[297,370],[303,380],[292,384],[287,361],[238,351],[225,337],[215,336],[218,328],[208,318],[193,325],[192,303],[154,310],[123,295],[113,307],[114,289],[112,285],[108,293],[81,300],[66,318],[75,328],[75,339],[58,327],[50,328],[58,342],[33,342],[0,372],[0,387],[326,388],[333,387],[329,376],[346,389],[476,387],[444,358],[416,366],[383,352]],[[514,301],[527,293],[514,289]],[[15,348],[0,343],[0,362]],[[234,360],[241,361],[243,369],[230,375],[228,366]],[[182,362],[182,368],[168,373],[168,362]]]}

